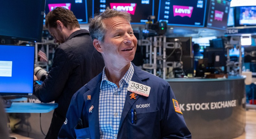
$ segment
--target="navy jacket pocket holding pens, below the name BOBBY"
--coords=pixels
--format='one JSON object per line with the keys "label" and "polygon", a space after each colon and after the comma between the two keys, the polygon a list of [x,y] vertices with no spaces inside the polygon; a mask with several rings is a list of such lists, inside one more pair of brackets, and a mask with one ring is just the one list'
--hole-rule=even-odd
{"label": "navy jacket pocket holding pens, below the name BOBBY", "polygon": [[129,113],[126,119],[127,138],[150,138],[155,139],[160,137],[159,111],[137,113]]}

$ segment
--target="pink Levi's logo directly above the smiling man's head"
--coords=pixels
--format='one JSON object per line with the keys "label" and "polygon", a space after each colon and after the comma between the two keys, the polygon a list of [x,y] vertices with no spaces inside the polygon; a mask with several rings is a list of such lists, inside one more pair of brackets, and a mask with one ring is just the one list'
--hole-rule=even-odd
{"label": "pink Levi's logo directly above the smiling man's head", "polygon": [[136,9],[136,3],[110,3],[111,9],[117,9],[118,11],[127,11],[134,15]]}

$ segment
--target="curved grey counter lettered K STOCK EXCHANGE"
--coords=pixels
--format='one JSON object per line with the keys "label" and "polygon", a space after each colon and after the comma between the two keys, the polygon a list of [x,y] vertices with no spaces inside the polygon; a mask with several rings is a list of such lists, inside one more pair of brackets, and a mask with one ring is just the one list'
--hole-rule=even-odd
{"label": "curved grey counter lettered K STOCK EXCHANGE", "polygon": [[232,139],[245,129],[245,77],[167,79],[192,137]]}

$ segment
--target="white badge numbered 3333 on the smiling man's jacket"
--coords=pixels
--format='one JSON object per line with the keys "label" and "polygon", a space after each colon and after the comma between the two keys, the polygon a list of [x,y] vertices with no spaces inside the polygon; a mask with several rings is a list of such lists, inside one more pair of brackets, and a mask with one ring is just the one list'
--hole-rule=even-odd
{"label": "white badge numbered 3333 on the smiling man's jacket", "polygon": [[128,91],[131,91],[135,94],[139,94],[145,97],[149,96],[149,92],[150,92],[150,87],[146,86],[144,84],[140,84],[134,81],[130,81],[129,85],[128,85]]}

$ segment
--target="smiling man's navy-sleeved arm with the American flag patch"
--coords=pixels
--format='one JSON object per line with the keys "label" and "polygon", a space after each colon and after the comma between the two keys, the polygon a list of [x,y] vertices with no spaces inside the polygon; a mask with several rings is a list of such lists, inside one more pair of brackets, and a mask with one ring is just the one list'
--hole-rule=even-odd
{"label": "smiling man's navy-sleeved arm with the American flag patch", "polygon": [[175,112],[173,100],[176,100],[169,84],[164,89],[160,114],[161,136],[163,139],[191,139],[183,115]]}

